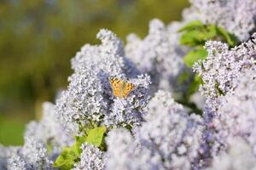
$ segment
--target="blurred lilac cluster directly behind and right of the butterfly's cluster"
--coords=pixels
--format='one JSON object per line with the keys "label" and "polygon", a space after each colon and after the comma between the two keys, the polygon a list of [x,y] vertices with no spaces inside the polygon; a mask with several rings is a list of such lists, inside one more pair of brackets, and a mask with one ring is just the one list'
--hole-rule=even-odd
{"label": "blurred lilac cluster directly behind and right of the butterfly's cluster", "polygon": [[160,20],[151,20],[148,36],[143,40],[135,34],[127,37],[125,53],[143,73],[152,78],[153,91],[158,88],[174,90],[177,87],[177,77],[184,69],[182,57],[186,54],[178,45],[178,39],[170,35]]}

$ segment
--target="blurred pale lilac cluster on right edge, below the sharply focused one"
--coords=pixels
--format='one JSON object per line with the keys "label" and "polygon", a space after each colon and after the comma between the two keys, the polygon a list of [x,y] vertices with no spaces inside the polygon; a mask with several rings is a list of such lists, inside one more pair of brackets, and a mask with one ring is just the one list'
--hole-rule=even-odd
{"label": "blurred pale lilac cluster on right edge, below the sharply focused one", "polygon": [[[247,141],[256,156],[256,70],[246,71],[237,82],[233,93],[221,98],[216,113],[212,116],[212,155],[229,147],[228,139],[241,137]],[[208,110],[205,114],[211,116]],[[209,133],[208,132],[208,133]]]}

